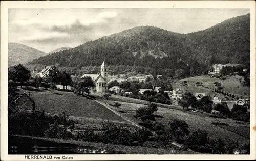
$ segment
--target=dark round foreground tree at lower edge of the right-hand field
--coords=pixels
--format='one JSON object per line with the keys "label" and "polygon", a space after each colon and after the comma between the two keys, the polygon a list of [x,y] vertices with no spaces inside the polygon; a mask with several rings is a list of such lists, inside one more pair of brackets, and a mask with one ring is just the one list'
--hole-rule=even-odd
{"label": "dark round foreground tree at lower edge of the right-hand field", "polygon": [[170,127],[170,131],[172,132],[172,135],[177,137],[179,140],[180,137],[184,137],[185,135],[188,135],[188,125],[185,121],[179,120],[179,119],[172,119],[168,123]]}

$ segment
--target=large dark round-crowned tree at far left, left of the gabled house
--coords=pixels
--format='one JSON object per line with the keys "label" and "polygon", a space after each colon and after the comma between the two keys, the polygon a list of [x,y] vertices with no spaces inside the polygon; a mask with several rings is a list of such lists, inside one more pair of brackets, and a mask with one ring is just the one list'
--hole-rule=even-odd
{"label": "large dark round-crowned tree at far left, left of the gabled house", "polygon": [[31,77],[30,71],[27,68],[25,68],[22,64],[14,66],[14,73],[15,80],[13,81],[18,81],[21,83],[28,81]]}

